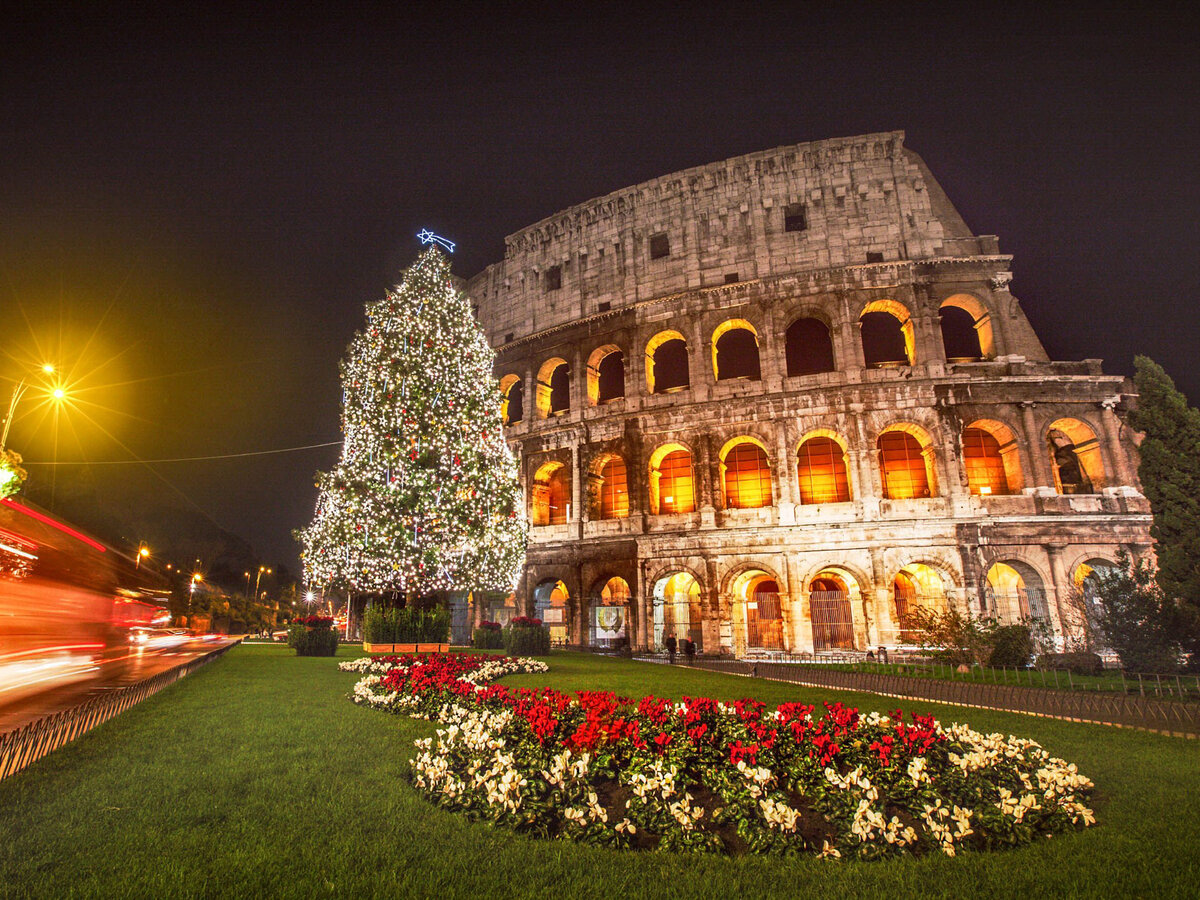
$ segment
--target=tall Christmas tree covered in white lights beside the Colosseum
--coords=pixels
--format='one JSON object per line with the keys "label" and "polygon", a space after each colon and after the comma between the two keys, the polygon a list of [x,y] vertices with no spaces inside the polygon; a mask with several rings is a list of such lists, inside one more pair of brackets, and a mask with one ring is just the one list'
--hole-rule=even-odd
{"label": "tall Christmas tree covered in white lights beside the Colosseum", "polygon": [[524,562],[493,353],[431,246],[342,361],[342,456],[318,473],[310,584],[364,593],[511,590]]}

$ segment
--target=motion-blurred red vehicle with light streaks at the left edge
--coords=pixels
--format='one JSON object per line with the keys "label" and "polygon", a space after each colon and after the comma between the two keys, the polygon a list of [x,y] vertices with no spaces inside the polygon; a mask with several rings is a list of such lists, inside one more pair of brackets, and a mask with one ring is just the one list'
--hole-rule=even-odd
{"label": "motion-blurred red vehicle with light streaks at the left edge", "polygon": [[0,499],[0,703],[90,677],[170,622],[166,578],[46,510]]}

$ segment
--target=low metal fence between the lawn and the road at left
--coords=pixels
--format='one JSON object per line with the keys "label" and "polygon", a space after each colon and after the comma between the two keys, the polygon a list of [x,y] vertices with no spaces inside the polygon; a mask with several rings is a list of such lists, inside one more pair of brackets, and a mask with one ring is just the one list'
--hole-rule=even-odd
{"label": "low metal fence between the lawn and the road at left", "polygon": [[226,644],[137,684],[116,688],[77,707],[52,713],[14,731],[0,734],[0,780],[31,766],[80,734],[86,734],[101,722],[120,715],[130,707],[191,674],[200,666],[218,659],[235,646],[236,642]]}

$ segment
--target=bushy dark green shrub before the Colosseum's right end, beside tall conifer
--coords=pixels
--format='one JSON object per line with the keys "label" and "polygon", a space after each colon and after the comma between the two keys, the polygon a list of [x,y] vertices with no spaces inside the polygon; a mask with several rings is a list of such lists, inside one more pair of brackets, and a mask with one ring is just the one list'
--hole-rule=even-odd
{"label": "bushy dark green shrub before the Colosseum's right end, beside tall conifer", "polygon": [[1100,602],[1097,624],[1121,665],[1133,672],[1174,672],[1180,665],[1183,634],[1180,604],[1154,582],[1145,560],[1132,563],[1123,551],[1115,569],[1097,569]]}

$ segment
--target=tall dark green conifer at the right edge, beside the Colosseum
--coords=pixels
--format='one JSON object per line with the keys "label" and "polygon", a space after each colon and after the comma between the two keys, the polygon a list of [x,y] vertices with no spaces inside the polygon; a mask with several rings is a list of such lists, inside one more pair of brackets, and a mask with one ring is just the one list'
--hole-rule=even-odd
{"label": "tall dark green conifer at the right edge, beside the Colosseum", "polygon": [[1138,408],[1129,425],[1145,436],[1138,478],[1150,500],[1150,527],[1158,557],[1156,581],[1182,601],[1178,626],[1193,664],[1200,662],[1200,410],[1159,366],[1134,359]]}

